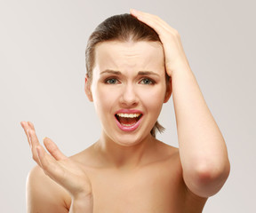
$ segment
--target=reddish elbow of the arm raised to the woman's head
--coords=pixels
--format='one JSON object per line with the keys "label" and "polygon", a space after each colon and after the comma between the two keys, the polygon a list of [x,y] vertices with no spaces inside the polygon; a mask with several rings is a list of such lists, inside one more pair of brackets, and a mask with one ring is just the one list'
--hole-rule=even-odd
{"label": "reddish elbow of the arm raised to the woman's head", "polygon": [[[199,163],[185,179],[188,188],[200,197],[211,197],[218,193],[228,179],[230,163]],[[187,181],[186,181],[187,179]]]}

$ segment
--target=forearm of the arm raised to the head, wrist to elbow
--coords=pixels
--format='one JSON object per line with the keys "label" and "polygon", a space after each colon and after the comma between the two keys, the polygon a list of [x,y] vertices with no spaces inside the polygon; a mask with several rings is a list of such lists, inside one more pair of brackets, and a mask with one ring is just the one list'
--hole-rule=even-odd
{"label": "forearm of the arm raised to the head, wrist to elbow", "polygon": [[220,185],[214,181],[220,182],[218,178],[228,174],[227,147],[190,68],[172,73],[172,99],[185,181],[197,181],[203,176]]}

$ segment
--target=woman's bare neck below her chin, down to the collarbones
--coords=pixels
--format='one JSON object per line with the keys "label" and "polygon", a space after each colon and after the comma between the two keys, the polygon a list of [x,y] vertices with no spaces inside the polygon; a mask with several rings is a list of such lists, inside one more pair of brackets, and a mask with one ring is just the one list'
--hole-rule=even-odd
{"label": "woman's bare neck below her chin, down to the collarbones", "polygon": [[147,163],[148,155],[153,154],[156,149],[156,138],[149,134],[138,144],[122,146],[102,133],[94,148],[106,166],[118,169],[135,169]]}

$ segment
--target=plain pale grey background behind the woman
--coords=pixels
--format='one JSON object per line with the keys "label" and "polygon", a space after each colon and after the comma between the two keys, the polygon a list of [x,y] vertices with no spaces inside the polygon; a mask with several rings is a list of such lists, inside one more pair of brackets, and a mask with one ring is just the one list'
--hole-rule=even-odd
{"label": "plain pale grey background behind the woman", "polygon": [[[205,213],[255,212],[255,1],[1,0],[1,212],[25,212],[25,183],[35,165],[20,121],[35,123],[75,154],[100,134],[84,94],[84,48],[108,16],[136,8],[180,32],[190,66],[228,145],[231,173]],[[254,59],[254,61],[253,61]],[[177,146],[172,99],[159,118],[158,138]]]}

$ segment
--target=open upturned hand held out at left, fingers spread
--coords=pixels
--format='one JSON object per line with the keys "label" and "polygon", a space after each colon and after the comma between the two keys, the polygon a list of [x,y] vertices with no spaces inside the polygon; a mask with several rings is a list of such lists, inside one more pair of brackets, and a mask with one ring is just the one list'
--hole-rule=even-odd
{"label": "open upturned hand held out at left, fingers spread", "polygon": [[50,138],[44,138],[44,146],[40,145],[32,122],[21,122],[34,161],[59,185],[71,195],[72,200],[81,200],[92,196],[92,185],[86,171],[78,162],[74,162],[60,152]]}

